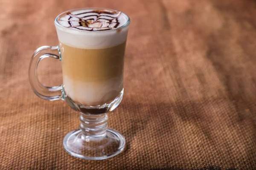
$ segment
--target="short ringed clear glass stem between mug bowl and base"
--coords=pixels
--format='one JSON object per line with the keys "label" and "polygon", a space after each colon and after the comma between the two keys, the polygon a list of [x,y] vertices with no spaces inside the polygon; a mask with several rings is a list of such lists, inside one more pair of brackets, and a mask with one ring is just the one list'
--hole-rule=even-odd
{"label": "short ringed clear glass stem between mug bowl and base", "polygon": [[80,129],[82,130],[82,139],[99,139],[106,136],[108,130],[108,115],[81,113]]}

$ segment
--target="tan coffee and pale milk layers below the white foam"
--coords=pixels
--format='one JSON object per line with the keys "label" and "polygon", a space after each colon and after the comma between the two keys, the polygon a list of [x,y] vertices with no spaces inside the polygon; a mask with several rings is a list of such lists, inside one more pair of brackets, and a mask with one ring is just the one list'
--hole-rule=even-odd
{"label": "tan coffee and pale milk layers below the white foam", "polygon": [[59,42],[66,94],[83,105],[102,105],[122,91],[125,42],[83,49]]}

